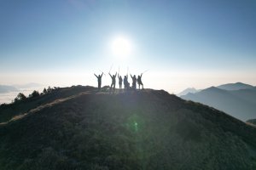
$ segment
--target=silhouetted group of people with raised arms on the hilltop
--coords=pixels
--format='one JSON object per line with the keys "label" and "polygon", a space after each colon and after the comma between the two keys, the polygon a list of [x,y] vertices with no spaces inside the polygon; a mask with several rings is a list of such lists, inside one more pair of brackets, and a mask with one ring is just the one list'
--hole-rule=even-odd
{"label": "silhouetted group of people with raised arms on the hilltop", "polygon": [[[96,78],[98,80],[98,90],[101,90],[102,88],[102,76],[103,76],[103,72],[101,75],[96,75]],[[109,91],[110,92],[114,92],[115,91],[115,84],[116,84],[116,77],[118,76],[118,80],[119,80],[119,89],[122,89],[122,86],[123,86],[123,83],[124,83],[124,86],[125,86],[125,92],[127,92],[128,90],[130,89],[133,89],[133,90],[136,90],[137,89],[137,84],[139,86],[139,89],[141,89],[141,86],[142,88],[143,87],[143,82],[142,82],[142,77],[143,77],[143,73],[141,75],[138,75],[137,77],[134,75],[133,77],[131,76],[131,79],[132,79],[132,86],[130,87],[130,82],[128,82],[128,74],[124,77],[124,79],[118,74],[117,75],[117,72],[114,74],[114,75],[111,75],[110,73],[108,73],[109,76],[111,77],[111,80],[112,80],[112,83],[111,83],[111,86],[109,88]]]}

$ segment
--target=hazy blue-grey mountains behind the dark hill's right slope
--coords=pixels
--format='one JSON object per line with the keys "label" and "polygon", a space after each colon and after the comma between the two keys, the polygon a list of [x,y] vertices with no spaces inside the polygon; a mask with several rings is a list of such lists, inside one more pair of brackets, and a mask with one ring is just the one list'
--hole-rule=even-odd
{"label": "hazy blue-grey mountains behind the dark hill's right slope", "polygon": [[206,88],[181,98],[210,105],[242,121],[256,118],[256,88],[241,82]]}

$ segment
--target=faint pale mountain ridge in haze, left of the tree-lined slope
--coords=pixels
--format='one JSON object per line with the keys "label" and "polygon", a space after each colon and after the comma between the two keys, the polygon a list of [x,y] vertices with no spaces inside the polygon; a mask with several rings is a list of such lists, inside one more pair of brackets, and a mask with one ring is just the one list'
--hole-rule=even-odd
{"label": "faint pale mountain ridge in haze, left of the tree-lined slope", "polygon": [[20,88],[36,88],[41,87],[42,84],[30,82],[27,84],[15,84],[15,85],[0,85],[0,94],[7,94],[9,92],[17,92]]}

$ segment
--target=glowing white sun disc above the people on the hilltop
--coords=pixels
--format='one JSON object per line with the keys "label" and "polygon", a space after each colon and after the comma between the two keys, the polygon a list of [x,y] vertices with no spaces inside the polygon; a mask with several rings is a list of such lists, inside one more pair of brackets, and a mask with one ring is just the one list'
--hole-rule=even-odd
{"label": "glowing white sun disc above the people on the hilltop", "polygon": [[111,43],[113,54],[124,58],[131,54],[131,42],[126,37],[116,37]]}

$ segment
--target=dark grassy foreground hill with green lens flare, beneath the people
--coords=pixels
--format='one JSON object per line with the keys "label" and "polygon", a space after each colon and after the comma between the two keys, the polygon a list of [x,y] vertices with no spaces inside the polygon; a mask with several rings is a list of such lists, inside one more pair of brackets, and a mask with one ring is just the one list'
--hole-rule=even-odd
{"label": "dark grassy foreground hill with green lens flare, beneath the people", "polygon": [[255,169],[256,128],[221,111],[162,90],[67,91],[1,123],[0,169]]}

